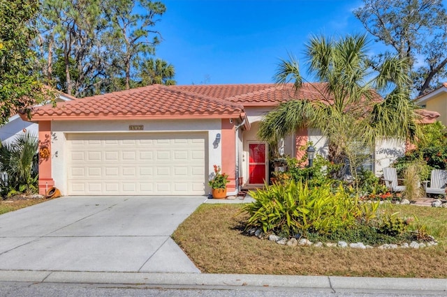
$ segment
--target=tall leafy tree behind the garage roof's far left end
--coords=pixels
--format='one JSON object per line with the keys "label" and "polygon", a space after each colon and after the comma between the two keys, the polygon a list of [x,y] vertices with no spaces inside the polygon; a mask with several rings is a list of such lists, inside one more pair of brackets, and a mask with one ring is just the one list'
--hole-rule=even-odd
{"label": "tall leafy tree behind the garage roof's far left end", "polygon": [[[98,32],[105,24],[100,1],[43,0],[37,24],[41,31],[41,60],[47,60],[43,73],[51,79],[54,71],[62,91],[85,95],[103,71]],[[72,77],[73,71],[76,77]]]}

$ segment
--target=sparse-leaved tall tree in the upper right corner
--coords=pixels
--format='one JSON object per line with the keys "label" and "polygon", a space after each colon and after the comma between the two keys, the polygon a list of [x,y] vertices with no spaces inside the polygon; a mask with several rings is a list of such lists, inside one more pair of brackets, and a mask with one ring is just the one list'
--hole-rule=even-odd
{"label": "sparse-leaved tall tree in the upper right corner", "polygon": [[446,77],[447,15],[441,0],[363,0],[354,10],[369,33],[409,59],[420,96]]}

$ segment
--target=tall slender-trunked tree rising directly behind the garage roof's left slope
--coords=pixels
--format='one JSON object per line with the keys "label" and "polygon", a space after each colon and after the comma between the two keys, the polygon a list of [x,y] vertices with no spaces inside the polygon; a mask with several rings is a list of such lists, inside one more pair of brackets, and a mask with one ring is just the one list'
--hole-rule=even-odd
{"label": "tall slender-trunked tree rising directly behind the garage roof's left slope", "polygon": [[117,66],[124,72],[125,89],[130,89],[132,65],[138,65],[142,58],[154,54],[154,47],[159,44],[159,32],[152,28],[157,22],[156,17],[163,15],[166,7],[159,1],[150,0],[138,1],[140,7],[133,0],[105,2],[106,19],[110,22],[106,37],[113,40],[108,44],[119,59]]}

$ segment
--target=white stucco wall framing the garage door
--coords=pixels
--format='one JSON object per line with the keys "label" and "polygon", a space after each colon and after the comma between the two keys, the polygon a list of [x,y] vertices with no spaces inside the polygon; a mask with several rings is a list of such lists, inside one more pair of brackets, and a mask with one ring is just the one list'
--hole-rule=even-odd
{"label": "white stucco wall framing the garage door", "polygon": [[[129,131],[129,125],[143,125],[142,131]],[[208,148],[207,172],[213,171],[214,164],[221,164],[221,143],[213,145],[221,133],[221,120],[177,120],[177,121],[54,121],[52,123],[52,176],[54,185],[62,193],[67,191],[67,143],[69,133],[147,133],[147,132],[206,132]],[[206,148],[205,148],[206,150]],[[207,181],[205,189],[207,189]]]}

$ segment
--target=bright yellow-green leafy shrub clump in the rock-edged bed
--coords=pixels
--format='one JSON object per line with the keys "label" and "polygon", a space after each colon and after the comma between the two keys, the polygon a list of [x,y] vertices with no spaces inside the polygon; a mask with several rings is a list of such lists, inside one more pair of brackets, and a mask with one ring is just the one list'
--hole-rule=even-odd
{"label": "bright yellow-green leafy shrub clump in the rock-edged bed", "polygon": [[[330,184],[310,188],[307,183],[293,180],[286,185],[275,183],[249,195],[255,201],[242,208],[249,213],[247,229],[257,227],[265,233],[284,236],[346,229],[365,215],[364,208],[375,206],[360,206],[341,186],[333,192]],[[369,211],[369,215],[374,216],[374,211]]]}

